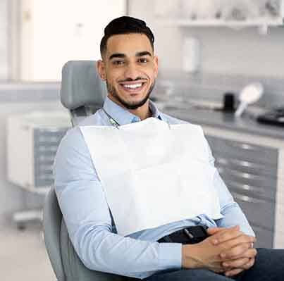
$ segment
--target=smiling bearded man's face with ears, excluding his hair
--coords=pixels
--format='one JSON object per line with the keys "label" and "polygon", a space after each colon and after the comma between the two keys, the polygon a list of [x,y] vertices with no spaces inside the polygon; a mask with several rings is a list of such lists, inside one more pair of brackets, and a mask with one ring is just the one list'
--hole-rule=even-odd
{"label": "smiling bearded man's face with ears, excluding his hair", "polygon": [[128,109],[143,106],[154,88],[158,59],[146,35],[113,35],[97,68],[109,97]]}

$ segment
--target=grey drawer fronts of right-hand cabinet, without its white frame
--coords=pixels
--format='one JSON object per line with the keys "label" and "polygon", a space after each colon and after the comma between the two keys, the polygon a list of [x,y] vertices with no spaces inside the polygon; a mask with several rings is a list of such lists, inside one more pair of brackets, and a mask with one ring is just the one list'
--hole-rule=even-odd
{"label": "grey drawer fronts of right-hand cabinet, without its white frame", "polygon": [[258,237],[271,247],[275,226],[278,149],[206,135],[216,168]]}

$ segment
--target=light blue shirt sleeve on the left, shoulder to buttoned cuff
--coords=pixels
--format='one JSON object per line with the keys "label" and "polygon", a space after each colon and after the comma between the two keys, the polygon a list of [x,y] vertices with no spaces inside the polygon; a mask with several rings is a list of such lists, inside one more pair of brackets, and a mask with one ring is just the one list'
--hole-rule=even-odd
{"label": "light blue shirt sleeve on the left, shoulder to buttoned cuff", "polygon": [[104,190],[78,127],[58,147],[54,177],[70,240],[87,268],[129,277],[181,268],[182,244],[143,241],[113,232]]}

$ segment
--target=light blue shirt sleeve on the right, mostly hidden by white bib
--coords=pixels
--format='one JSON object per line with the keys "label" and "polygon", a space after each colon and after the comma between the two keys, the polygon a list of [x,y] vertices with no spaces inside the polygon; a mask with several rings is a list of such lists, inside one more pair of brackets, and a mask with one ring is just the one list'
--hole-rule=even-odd
{"label": "light blue shirt sleeve on the right, mostly hidden by white bib", "polygon": [[[208,145],[209,150],[209,158],[210,163],[214,166],[215,158],[212,155],[211,149]],[[240,225],[240,229],[247,235],[255,236],[252,227],[249,225],[249,222],[242,212],[239,204],[235,202],[232,194],[230,194],[228,187],[226,187],[225,183],[221,179],[221,176],[216,169],[214,174],[214,187],[218,192],[218,198],[220,201],[221,214],[223,218],[216,220],[216,224],[218,227],[231,227],[234,225]]]}

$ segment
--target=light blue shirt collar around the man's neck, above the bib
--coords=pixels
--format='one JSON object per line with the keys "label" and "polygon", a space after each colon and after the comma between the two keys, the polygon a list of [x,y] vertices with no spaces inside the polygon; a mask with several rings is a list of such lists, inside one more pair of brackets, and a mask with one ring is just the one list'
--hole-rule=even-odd
{"label": "light blue shirt collar around the man's neck, above the bib", "polygon": [[[149,101],[149,108],[152,112],[152,117],[163,120],[161,113],[159,113],[159,109],[156,107],[153,101]],[[106,96],[106,99],[104,100],[104,110],[106,113],[111,115],[111,118],[116,120],[119,125],[126,125],[141,121],[137,115],[132,114],[126,108],[123,108],[111,101],[108,96]]]}

